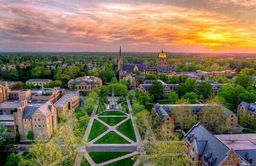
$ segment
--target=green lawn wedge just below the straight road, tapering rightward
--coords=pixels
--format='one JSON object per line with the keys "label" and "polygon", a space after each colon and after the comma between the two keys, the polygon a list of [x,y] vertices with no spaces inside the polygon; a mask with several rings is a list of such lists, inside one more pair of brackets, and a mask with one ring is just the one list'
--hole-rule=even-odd
{"label": "green lawn wedge just below the straight road, tapering rightward", "polygon": [[90,151],[89,155],[92,160],[96,163],[103,163],[105,161],[112,160],[113,158],[117,158],[120,156],[127,155],[132,153],[131,151]]}

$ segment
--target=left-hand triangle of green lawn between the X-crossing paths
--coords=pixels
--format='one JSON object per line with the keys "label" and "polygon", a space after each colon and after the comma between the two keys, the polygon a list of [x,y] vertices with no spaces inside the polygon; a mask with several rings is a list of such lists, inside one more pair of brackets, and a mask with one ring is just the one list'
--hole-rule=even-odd
{"label": "left-hand triangle of green lawn between the X-crossing paths", "polygon": [[104,133],[107,127],[97,120],[93,120],[92,128],[88,137],[88,141],[95,139],[100,134]]}

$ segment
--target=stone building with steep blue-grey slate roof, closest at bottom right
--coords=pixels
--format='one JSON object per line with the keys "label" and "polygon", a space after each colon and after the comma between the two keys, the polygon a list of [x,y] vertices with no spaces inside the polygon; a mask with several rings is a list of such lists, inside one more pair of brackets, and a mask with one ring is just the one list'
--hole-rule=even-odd
{"label": "stone building with steep blue-grey slate roof, closest at bottom right", "polygon": [[[240,155],[239,151],[228,148],[212,135],[200,122],[185,135],[190,165],[250,165],[250,157]],[[251,155],[251,154],[250,154]],[[249,155],[248,155],[249,156]]]}

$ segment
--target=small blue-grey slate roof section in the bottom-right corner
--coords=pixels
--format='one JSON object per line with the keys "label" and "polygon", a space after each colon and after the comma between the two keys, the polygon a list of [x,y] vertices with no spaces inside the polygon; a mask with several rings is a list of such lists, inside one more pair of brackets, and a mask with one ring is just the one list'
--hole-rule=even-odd
{"label": "small blue-grey slate roof section in the bottom-right corner", "polygon": [[235,150],[235,153],[244,158],[251,166],[256,166],[256,149]]}

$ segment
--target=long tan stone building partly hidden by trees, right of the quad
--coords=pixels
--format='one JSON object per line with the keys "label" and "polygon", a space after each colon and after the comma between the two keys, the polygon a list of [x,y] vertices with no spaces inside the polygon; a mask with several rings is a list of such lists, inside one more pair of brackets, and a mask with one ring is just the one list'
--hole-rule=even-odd
{"label": "long tan stone building partly hidden by trees, right of the quad", "polygon": [[[196,120],[199,121],[200,118],[203,116],[204,108],[205,107],[212,107],[212,105],[208,104],[172,104],[172,105],[159,105],[157,103],[154,105],[153,110],[154,112],[160,117],[160,119],[167,121],[170,124],[170,130],[180,128],[180,124],[176,122],[177,117],[173,113],[173,109],[176,107],[186,107],[186,109],[191,110],[187,113],[184,118],[187,118],[187,121],[183,124],[184,128],[190,127],[190,114],[196,116]],[[222,106],[223,107],[223,106]],[[241,128],[238,127],[238,118],[237,116],[229,109],[224,108],[224,117],[226,119],[225,125],[221,126],[225,132],[234,133],[234,132],[241,132]]]}

